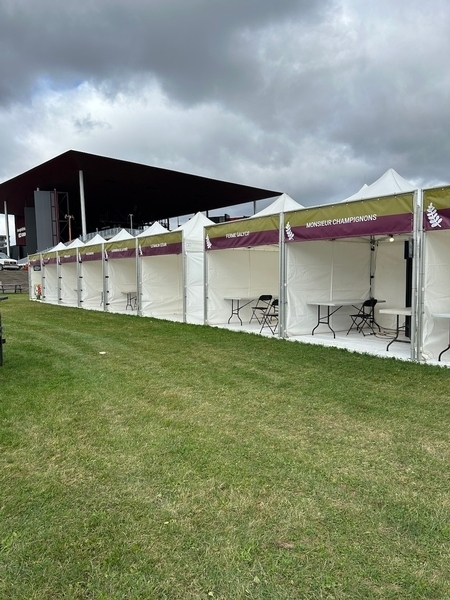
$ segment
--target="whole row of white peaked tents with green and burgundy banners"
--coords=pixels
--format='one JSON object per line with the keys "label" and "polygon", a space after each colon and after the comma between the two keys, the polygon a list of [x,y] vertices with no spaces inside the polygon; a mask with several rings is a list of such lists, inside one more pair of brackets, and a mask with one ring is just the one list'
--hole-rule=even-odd
{"label": "whole row of white peaked tents with green and burgundy banners", "polygon": [[[346,200],[305,208],[283,194],[253,217],[214,224],[198,213],[174,231],[122,230],[30,256],[30,294],[94,310],[227,326],[231,299],[279,299],[277,335],[306,339],[317,303],[380,300],[376,322],[393,330],[409,307],[409,358],[437,359],[449,344],[450,187],[421,190],[390,169]],[[249,302],[240,311],[244,328]],[[349,312],[331,318],[345,334]],[[233,317],[231,324],[240,326]],[[259,330],[255,322],[253,327]],[[361,334],[356,332],[357,336]],[[333,339],[321,325],[315,332]],[[337,336],[338,337],[338,336]],[[450,351],[443,361],[450,360]]]}

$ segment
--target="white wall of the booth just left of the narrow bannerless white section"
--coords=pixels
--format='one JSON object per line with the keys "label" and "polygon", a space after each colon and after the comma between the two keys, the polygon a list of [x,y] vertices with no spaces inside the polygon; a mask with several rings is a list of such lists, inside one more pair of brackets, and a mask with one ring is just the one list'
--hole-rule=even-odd
{"label": "white wall of the booth just left of the narrow bannerless white section", "polygon": [[183,255],[141,256],[141,314],[183,320]]}

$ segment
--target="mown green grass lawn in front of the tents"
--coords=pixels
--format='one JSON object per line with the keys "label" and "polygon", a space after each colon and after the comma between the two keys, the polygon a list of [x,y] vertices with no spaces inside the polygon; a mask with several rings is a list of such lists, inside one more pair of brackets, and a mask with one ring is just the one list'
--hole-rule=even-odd
{"label": "mown green grass lawn in front of the tents", "polygon": [[0,598],[450,598],[450,370],[2,302]]}

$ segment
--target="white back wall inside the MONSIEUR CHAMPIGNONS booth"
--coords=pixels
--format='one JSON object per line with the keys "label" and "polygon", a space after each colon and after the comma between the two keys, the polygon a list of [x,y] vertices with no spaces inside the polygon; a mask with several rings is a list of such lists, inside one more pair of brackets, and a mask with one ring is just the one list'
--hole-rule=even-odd
{"label": "white back wall inside the MONSIEUR CHAMPIGNONS booth", "polygon": [[[317,306],[309,302],[369,297],[370,244],[357,240],[286,244],[286,275],[287,335],[309,335],[317,324],[318,312]],[[335,331],[348,330],[352,310],[343,307],[336,312],[332,317]],[[325,332],[327,328],[320,326],[316,331]]]}

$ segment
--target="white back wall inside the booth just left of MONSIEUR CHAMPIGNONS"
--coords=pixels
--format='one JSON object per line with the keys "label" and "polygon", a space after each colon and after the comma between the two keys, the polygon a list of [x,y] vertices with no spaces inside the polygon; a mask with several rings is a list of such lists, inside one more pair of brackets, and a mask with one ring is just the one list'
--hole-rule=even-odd
{"label": "white back wall inside the booth just left of MONSIEUR CHAMPIGNONS", "polygon": [[[207,282],[208,323],[227,323],[231,302],[225,298],[256,300],[262,294],[278,296],[278,247],[211,251],[207,260]],[[241,310],[240,316],[243,321],[250,320],[250,305]]]}

